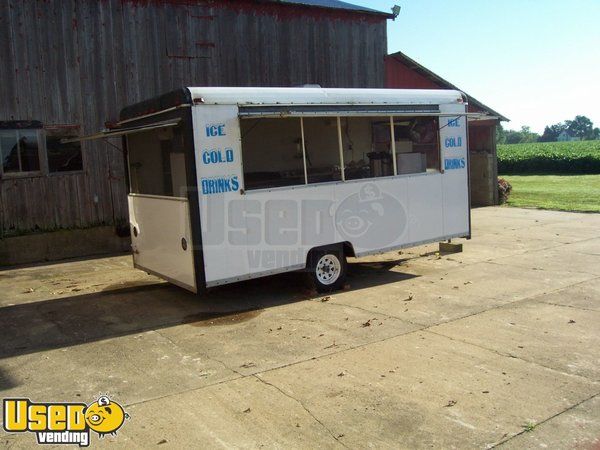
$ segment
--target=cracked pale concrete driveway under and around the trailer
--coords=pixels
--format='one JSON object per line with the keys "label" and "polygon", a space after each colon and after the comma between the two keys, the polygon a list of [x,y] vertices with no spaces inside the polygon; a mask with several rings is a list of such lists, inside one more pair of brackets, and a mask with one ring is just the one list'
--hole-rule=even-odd
{"label": "cracked pale concrete driveway under and around the trailer", "polygon": [[128,256],[2,271],[1,395],[109,393],[131,418],[93,446],[600,448],[600,215],[473,228],[330,297],[285,274],[196,298]]}

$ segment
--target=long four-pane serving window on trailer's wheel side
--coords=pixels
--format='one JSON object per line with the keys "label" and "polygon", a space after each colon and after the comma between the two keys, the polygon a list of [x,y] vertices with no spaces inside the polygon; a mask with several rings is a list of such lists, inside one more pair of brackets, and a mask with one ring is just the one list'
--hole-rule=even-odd
{"label": "long four-pane serving window on trailer's wheel side", "polygon": [[242,117],[246,190],[440,170],[435,116]]}

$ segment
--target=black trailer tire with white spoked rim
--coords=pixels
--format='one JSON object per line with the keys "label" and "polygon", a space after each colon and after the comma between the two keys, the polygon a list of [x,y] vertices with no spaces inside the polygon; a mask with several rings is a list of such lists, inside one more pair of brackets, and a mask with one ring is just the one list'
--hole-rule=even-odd
{"label": "black trailer tire with white spoked rim", "polygon": [[306,268],[309,281],[317,292],[332,292],[344,287],[347,263],[341,246],[311,251]]}

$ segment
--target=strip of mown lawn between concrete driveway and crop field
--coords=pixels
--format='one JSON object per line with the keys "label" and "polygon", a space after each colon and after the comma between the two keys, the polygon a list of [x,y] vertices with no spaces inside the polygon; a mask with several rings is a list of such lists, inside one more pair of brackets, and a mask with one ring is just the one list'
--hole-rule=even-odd
{"label": "strip of mown lawn between concrete driveway and crop field", "polygon": [[600,175],[500,175],[512,185],[509,206],[600,212]]}

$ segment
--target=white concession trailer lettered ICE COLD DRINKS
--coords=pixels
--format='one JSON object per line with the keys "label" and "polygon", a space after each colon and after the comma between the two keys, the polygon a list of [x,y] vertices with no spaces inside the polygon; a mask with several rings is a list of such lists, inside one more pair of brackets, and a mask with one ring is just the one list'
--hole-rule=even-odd
{"label": "white concession trailer lettered ICE COLD DRINKS", "polygon": [[121,111],[135,267],[193,292],[470,237],[453,90],[190,87]]}

